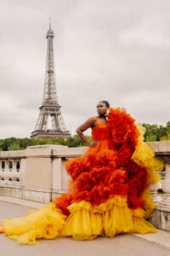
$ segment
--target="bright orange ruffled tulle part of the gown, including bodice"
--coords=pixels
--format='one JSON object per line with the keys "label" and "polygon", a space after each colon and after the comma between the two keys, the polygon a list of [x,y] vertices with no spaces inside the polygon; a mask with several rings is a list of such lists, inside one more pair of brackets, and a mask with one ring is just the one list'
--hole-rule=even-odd
{"label": "bright orange ruffled tulle part of the gown, including bodice", "polygon": [[139,137],[134,119],[124,109],[110,108],[108,125],[96,125],[92,137],[99,141],[96,147],[65,163],[72,192],[69,201],[62,195],[56,206],[68,214],[65,205],[69,203],[85,200],[99,205],[123,195],[129,207],[144,207],[140,196],[147,185],[147,172],[131,159]]}

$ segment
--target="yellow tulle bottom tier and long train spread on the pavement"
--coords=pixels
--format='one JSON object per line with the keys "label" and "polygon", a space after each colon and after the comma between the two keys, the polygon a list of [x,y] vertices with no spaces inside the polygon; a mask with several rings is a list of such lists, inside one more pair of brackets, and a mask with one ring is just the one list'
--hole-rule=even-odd
{"label": "yellow tulle bottom tier and long train spread on the pavement", "polygon": [[119,233],[156,232],[156,228],[144,219],[141,208],[130,210],[127,199],[115,196],[99,206],[88,201],[73,203],[68,218],[49,203],[26,217],[3,220],[5,234],[23,244],[38,244],[37,239],[54,239],[72,236],[76,240],[91,240],[96,236],[113,237]]}

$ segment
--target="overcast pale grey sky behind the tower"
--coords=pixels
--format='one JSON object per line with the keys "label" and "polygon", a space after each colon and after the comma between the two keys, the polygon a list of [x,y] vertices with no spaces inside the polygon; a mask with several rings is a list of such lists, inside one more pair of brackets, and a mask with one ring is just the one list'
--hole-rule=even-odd
{"label": "overcast pale grey sky behind the tower", "polygon": [[72,134],[101,100],[137,122],[166,125],[169,0],[0,0],[0,138],[30,137],[35,128],[49,16],[59,103]]}

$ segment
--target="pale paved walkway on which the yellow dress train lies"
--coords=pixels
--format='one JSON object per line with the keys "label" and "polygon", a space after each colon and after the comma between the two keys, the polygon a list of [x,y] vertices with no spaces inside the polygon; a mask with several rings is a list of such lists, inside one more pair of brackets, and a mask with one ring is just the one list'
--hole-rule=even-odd
{"label": "pale paved walkway on which the yellow dress train lies", "polygon": [[[20,205],[19,203],[22,203]],[[27,210],[42,204],[0,196],[0,219],[25,216]],[[29,207],[28,207],[29,206]],[[21,245],[0,235],[1,256],[170,256],[170,233],[158,230],[156,234],[115,238],[99,237],[93,241],[74,241],[70,237],[41,240],[39,246]]]}

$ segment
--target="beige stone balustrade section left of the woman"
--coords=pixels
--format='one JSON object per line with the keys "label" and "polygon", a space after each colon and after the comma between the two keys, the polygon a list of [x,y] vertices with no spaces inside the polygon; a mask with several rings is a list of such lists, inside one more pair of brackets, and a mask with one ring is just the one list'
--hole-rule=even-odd
{"label": "beige stone balustrade section left of the woman", "polygon": [[65,160],[80,156],[85,150],[39,145],[0,151],[0,195],[43,203],[52,201],[68,187]]}

